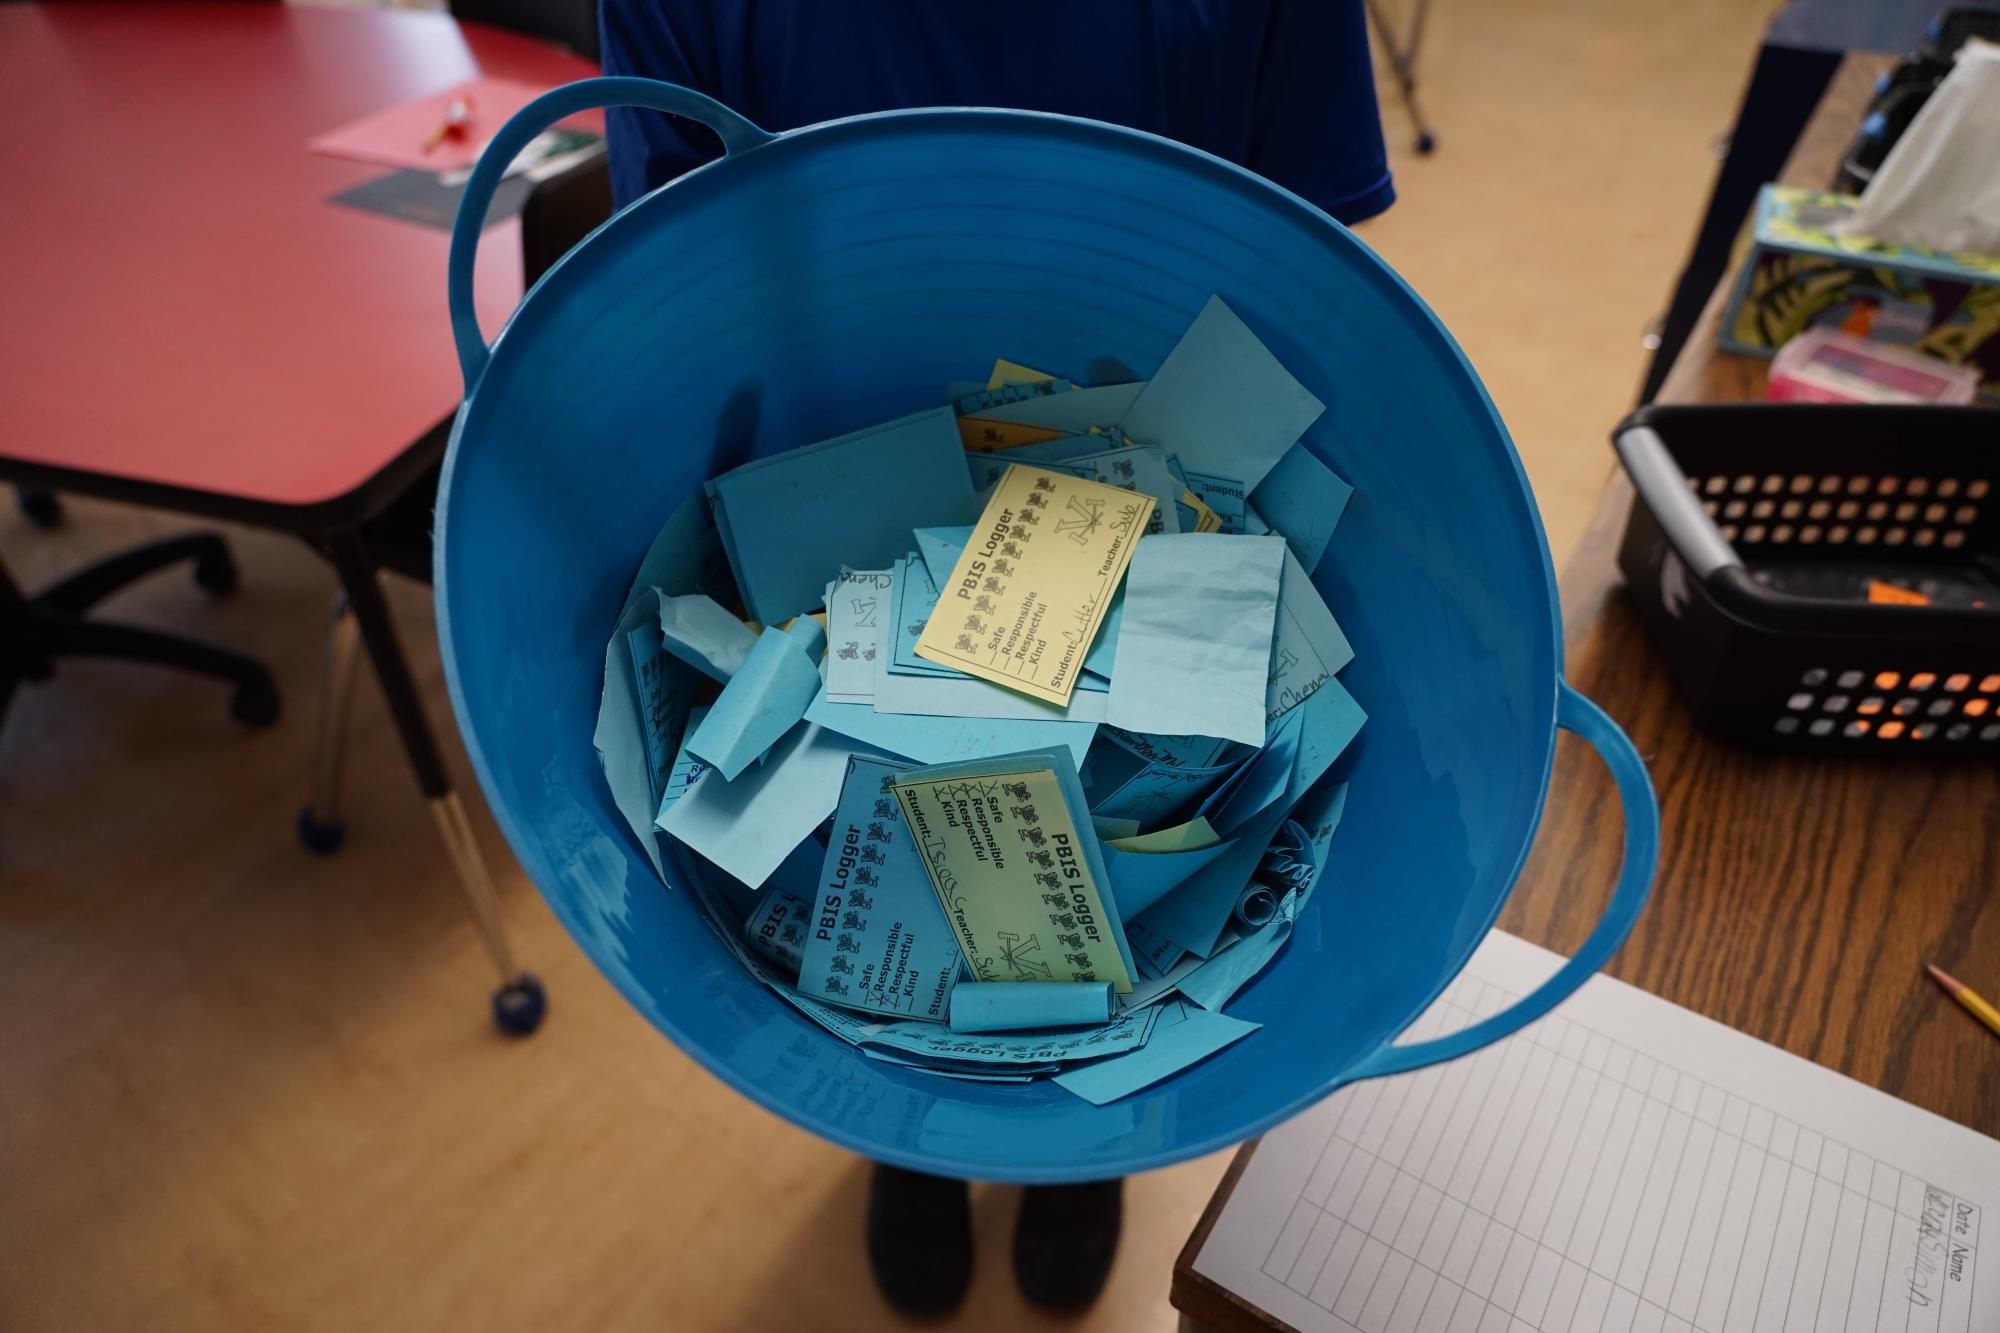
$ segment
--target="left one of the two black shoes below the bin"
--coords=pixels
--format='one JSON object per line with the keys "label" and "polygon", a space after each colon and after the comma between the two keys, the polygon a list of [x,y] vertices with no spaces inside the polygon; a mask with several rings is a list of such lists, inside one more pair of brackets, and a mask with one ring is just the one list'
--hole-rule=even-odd
{"label": "left one of the two black shoes below the bin", "polygon": [[964,1181],[876,1163],[868,1183],[868,1267],[910,1319],[958,1309],[972,1285],[972,1205]]}

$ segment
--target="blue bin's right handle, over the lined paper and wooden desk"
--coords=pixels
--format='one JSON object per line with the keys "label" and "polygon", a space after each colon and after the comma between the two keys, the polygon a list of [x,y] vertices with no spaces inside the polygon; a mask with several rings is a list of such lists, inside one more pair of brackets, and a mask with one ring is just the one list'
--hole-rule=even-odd
{"label": "blue bin's right handle, over the lined paper and wooden desk", "polygon": [[1418,1041],[1408,1047],[1380,1047],[1348,1071],[1350,1079],[1408,1073],[1424,1065],[1458,1059],[1502,1037],[1512,1037],[1570,999],[1570,993],[1590,981],[1618,953],[1618,945],[1626,941],[1626,935],[1632,933],[1632,923],[1638,921],[1638,911],[1646,905],[1646,895],[1652,893],[1652,873],[1660,863],[1660,805],[1654,801],[1652,781],[1646,777],[1646,765],[1640,761],[1632,739],[1602,709],[1566,683],[1560,689],[1556,725],[1574,733],[1598,753],[1604,767],[1612,771],[1612,781],[1618,785],[1618,801],[1624,805],[1624,867],[1618,871],[1618,887],[1612,891],[1612,901],[1604,907],[1604,917],[1598,919],[1598,925],[1590,931],[1590,939],[1576,951],[1576,957],[1564,963],[1554,977],[1536,987],[1526,999],[1514,1001],[1512,1007],[1502,1009],[1490,1019],[1482,1019],[1446,1037]]}

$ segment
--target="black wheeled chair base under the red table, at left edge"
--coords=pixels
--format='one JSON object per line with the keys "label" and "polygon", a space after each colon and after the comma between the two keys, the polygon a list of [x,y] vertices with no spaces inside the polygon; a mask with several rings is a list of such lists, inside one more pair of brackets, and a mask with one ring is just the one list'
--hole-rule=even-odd
{"label": "black wheeled chair base under the red table, at left edge", "polygon": [[64,656],[112,656],[174,666],[236,687],[230,715],[246,727],[278,721],[278,685],[264,662],[198,638],[136,624],[90,620],[100,600],[160,568],[194,564],[194,582],[218,596],[236,588],[236,560],[216,532],[188,532],[122,550],[26,596],[0,568],[0,719],[24,681],[46,681]]}

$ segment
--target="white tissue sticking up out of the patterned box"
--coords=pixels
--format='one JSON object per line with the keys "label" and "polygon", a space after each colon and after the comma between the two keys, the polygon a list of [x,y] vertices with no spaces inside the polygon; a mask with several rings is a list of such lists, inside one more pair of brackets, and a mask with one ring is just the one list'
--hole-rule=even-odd
{"label": "white tissue sticking up out of the patterned box", "polygon": [[1958,50],[1958,64],[1836,230],[2000,254],[2000,46],[1970,38]]}

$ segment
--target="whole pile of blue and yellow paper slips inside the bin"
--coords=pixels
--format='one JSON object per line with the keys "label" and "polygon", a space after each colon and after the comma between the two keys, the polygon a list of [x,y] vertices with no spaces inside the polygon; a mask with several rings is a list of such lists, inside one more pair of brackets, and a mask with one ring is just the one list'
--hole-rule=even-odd
{"label": "whole pile of blue and yellow paper slips inside the bin", "polygon": [[[998,360],[688,496],[604,652],[618,811],[866,1055],[1114,1101],[1254,1031],[1340,823],[1320,402],[1212,298],[1144,382]],[[866,476],[866,506],[836,506]],[[676,879],[678,883],[678,879]]]}

